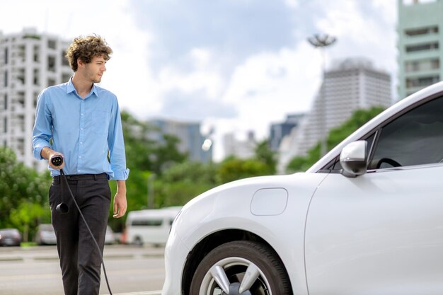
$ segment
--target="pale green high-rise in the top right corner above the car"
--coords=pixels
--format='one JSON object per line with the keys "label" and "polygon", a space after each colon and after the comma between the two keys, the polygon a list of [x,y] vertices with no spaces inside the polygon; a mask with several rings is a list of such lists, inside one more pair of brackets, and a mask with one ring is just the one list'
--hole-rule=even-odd
{"label": "pale green high-rise in the top right corner above the car", "polygon": [[443,1],[398,0],[398,98],[443,77]]}

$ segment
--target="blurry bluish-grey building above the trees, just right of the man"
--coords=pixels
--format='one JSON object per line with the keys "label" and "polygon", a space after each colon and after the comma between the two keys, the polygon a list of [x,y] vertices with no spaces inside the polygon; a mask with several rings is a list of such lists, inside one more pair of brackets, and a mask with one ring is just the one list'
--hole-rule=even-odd
{"label": "blurry bluish-grey building above the trees, just right of the man", "polygon": [[151,139],[161,142],[163,134],[171,134],[180,139],[178,150],[187,153],[191,161],[212,161],[212,145],[205,143],[205,140],[210,139],[200,132],[200,122],[155,119],[149,120],[149,124],[158,128],[158,131],[149,133]]}

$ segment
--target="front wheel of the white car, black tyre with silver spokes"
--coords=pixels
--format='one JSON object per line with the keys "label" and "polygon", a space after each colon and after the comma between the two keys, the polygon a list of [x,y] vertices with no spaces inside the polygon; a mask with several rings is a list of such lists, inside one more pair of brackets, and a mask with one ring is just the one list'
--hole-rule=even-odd
{"label": "front wheel of the white car, black tyre with silver spokes", "polygon": [[[242,283],[243,289],[239,290]],[[263,243],[234,241],[209,252],[197,266],[190,285],[190,295],[228,293],[292,295],[292,290],[274,250]]]}

